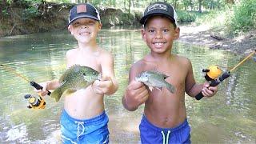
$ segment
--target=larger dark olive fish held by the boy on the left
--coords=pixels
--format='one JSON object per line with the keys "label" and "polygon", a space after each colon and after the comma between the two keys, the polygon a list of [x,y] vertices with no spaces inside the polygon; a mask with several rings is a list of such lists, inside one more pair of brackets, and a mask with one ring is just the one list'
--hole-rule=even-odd
{"label": "larger dark olive fish held by the boy on the left", "polygon": [[72,94],[77,90],[86,88],[97,80],[100,75],[98,71],[87,66],[71,66],[62,74],[59,79],[61,85],[50,94],[50,97],[55,98],[55,101],[58,102],[62,94]]}

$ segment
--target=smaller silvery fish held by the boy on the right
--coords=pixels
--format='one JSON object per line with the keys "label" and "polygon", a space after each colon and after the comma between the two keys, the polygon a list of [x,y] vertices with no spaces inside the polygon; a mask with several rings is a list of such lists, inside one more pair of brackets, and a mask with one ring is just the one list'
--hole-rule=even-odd
{"label": "smaller silvery fish held by the boy on the right", "polygon": [[162,74],[157,71],[144,71],[141,74],[138,74],[137,77],[135,77],[135,80],[138,82],[143,82],[146,86],[149,86],[149,89],[152,91],[153,88],[162,89],[162,87],[166,87],[167,90],[169,90],[171,93],[174,94],[175,87],[172,86],[170,83],[166,82],[166,78],[169,76],[166,76],[166,74]]}

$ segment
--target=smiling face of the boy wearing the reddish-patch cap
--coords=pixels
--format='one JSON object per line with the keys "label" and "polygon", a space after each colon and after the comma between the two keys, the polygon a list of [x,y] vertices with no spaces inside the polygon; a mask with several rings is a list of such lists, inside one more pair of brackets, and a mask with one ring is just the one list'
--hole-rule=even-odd
{"label": "smiling face of the boy wearing the reddish-patch cap", "polygon": [[81,43],[96,42],[102,24],[92,18],[78,18],[70,24],[68,30]]}

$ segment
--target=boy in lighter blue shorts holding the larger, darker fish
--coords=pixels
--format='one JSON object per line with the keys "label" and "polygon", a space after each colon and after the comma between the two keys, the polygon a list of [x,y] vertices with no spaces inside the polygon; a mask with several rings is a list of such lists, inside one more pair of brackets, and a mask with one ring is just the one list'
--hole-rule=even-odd
{"label": "boy in lighter blue shorts holding the larger, darker fish", "polygon": [[[65,97],[61,116],[63,143],[108,143],[109,121],[104,110],[104,95],[114,94],[118,82],[114,76],[112,54],[96,42],[102,24],[98,10],[90,4],[79,4],[70,10],[68,30],[78,41],[78,47],[66,52],[67,67],[89,66],[102,74],[100,81]],[[58,80],[42,83],[42,95],[54,90]],[[39,91],[38,91],[39,92]]]}

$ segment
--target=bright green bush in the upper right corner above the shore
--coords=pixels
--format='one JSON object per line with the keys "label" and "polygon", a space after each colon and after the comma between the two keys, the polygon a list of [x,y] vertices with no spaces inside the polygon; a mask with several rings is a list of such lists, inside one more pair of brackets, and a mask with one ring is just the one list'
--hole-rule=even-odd
{"label": "bright green bush in the upper right corner above the shore", "polygon": [[234,16],[231,18],[231,30],[237,34],[239,31],[256,29],[256,1],[242,0],[234,6]]}

